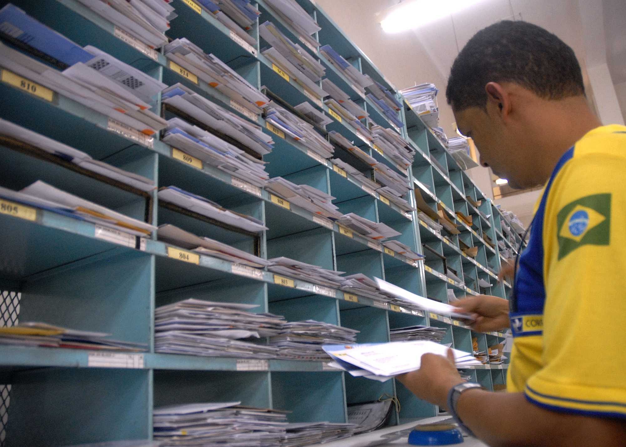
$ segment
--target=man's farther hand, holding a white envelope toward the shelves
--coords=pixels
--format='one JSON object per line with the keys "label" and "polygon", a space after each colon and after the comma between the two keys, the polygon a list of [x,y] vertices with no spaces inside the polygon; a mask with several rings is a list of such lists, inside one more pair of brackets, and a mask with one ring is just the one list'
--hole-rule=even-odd
{"label": "man's farther hand, holding a white envelope toward the shelves", "polygon": [[501,331],[510,327],[509,302],[491,295],[464,297],[453,302],[459,312],[471,314],[469,326],[478,332]]}

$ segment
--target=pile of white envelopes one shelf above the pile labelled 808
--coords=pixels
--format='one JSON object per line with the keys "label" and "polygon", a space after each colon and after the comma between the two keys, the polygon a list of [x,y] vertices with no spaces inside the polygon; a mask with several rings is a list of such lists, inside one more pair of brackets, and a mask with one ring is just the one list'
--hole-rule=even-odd
{"label": "pile of white envelopes one shelf above the pile labelled 808", "polygon": [[312,125],[274,101],[265,106],[265,120],[322,158],[332,157],[335,149],[331,143],[319,135]]}

